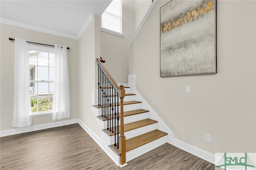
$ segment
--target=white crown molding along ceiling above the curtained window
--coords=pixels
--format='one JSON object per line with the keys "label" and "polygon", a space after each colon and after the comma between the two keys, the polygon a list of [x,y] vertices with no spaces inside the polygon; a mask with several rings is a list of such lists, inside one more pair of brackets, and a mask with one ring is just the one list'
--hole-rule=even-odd
{"label": "white crown molding along ceiling above the curtained window", "polygon": [[77,35],[72,35],[72,34],[60,32],[60,31],[55,31],[55,30],[52,30],[52,29],[38,27],[38,26],[34,26],[34,25],[30,25],[30,24],[26,24],[26,23],[14,21],[14,20],[8,20],[6,18],[0,18],[0,23],[13,25],[13,26],[16,26],[16,27],[22,27],[22,28],[26,28],[26,29],[31,29],[31,30],[34,30],[34,31],[39,31],[39,32],[48,33],[48,34],[52,34],[52,35],[58,35],[58,36],[61,36],[61,37],[66,37],[66,38],[71,38],[71,39],[78,39]]}

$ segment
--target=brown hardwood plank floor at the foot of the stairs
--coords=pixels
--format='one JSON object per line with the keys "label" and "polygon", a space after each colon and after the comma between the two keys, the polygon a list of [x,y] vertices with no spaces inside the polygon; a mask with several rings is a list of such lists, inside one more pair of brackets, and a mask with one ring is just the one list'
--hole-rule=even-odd
{"label": "brown hardwood plank floor at the foot of the stairs", "polygon": [[119,168],[78,124],[0,138],[1,170],[214,170],[168,143]]}

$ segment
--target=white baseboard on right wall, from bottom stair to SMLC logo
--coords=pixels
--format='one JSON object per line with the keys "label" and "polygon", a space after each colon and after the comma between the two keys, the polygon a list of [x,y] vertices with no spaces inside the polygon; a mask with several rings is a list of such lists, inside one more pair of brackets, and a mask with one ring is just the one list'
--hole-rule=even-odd
{"label": "white baseboard on right wall, from bottom stair to SMLC logo", "polygon": [[203,150],[193,145],[190,145],[188,143],[182,142],[178,139],[172,139],[170,141],[170,144],[182,150],[185,150],[186,152],[191,153],[199,158],[202,158],[208,162],[211,162],[212,164],[215,164],[215,155],[210,152],[207,152],[206,150]]}

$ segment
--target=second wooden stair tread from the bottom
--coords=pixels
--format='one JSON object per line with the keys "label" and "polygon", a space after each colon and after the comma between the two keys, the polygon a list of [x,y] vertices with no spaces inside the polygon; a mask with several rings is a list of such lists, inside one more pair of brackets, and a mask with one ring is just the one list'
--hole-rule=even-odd
{"label": "second wooden stair tread from the bottom", "polygon": [[[139,121],[134,121],[131,123],[124,124],[124,132],[137,129],[143,126],[151,125],[153,123],[157,123],[158,121],[152,120],[152,119],[143,119]],[[112,131],[109,131],[108,129],[102,129],[105,133],[107,133],[109,136],[114,135],[115,133],[112,133]],[[114,132],[117,131],[117,127],[114,127]],[[120,125],[118,126],[118,133],[120,133]]]}

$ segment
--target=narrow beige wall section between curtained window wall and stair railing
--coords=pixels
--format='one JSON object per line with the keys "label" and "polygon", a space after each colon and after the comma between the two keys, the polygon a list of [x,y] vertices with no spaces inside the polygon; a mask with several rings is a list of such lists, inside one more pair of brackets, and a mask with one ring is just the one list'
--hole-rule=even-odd
{"label": "narrow beige wall section between curtained window wall and stair railing", "polygon": [[[100,129],[96,122],[96,117],[92,111],[92,91],[95,90],[95,70],[96,58],[100,56],[100,17],[95,16],[95,20],[84,31],[78,40],[79,60],[78,60],[78,105],[79,118],[94,133],[100,136]],[[98,67],[97,67],[98,69]],[[98,83],[98,82],[97,82]]]}

